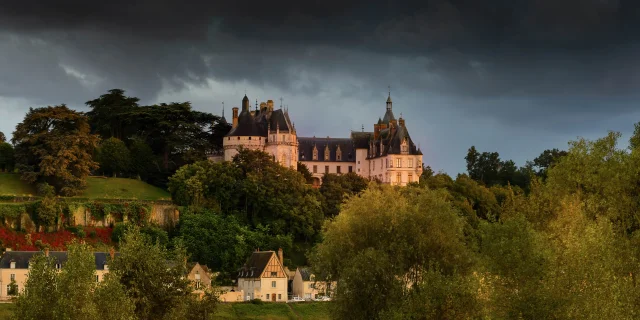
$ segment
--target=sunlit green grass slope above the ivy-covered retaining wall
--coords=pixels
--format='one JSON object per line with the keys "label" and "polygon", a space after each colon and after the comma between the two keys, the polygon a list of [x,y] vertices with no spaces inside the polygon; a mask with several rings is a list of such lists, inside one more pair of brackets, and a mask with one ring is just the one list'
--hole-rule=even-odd
{"label": "sunlit green grass slope above the ivy-covered retaining wall", "polygon": [[[36,190],[20,175],[0,173],[0,195],[35,195]],[[89,177],[80,198],[170,200],[168,192],[135,179]]]}

